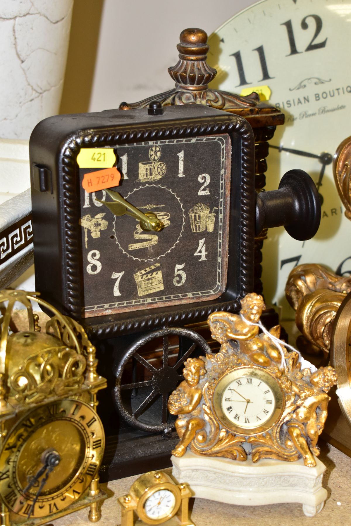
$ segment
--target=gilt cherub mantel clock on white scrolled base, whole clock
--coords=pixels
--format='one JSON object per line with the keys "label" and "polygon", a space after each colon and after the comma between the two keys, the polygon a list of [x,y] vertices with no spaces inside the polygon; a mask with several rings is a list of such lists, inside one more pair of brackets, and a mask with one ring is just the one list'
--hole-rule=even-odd
{"label": "gilt cherub mantel clock on white scrolled base, whole clock", "polygon": [[249,294],[241,303],[239,315],[209,316],[220,351],[189,358],[185,380],[169,397],[180,438],[173,474],[188,481],[195,497],[300,502],[306,515],[314,515],[327,496],[317,440],[336,372],[287,352],[279,326],[258,333],[261,296]]}

